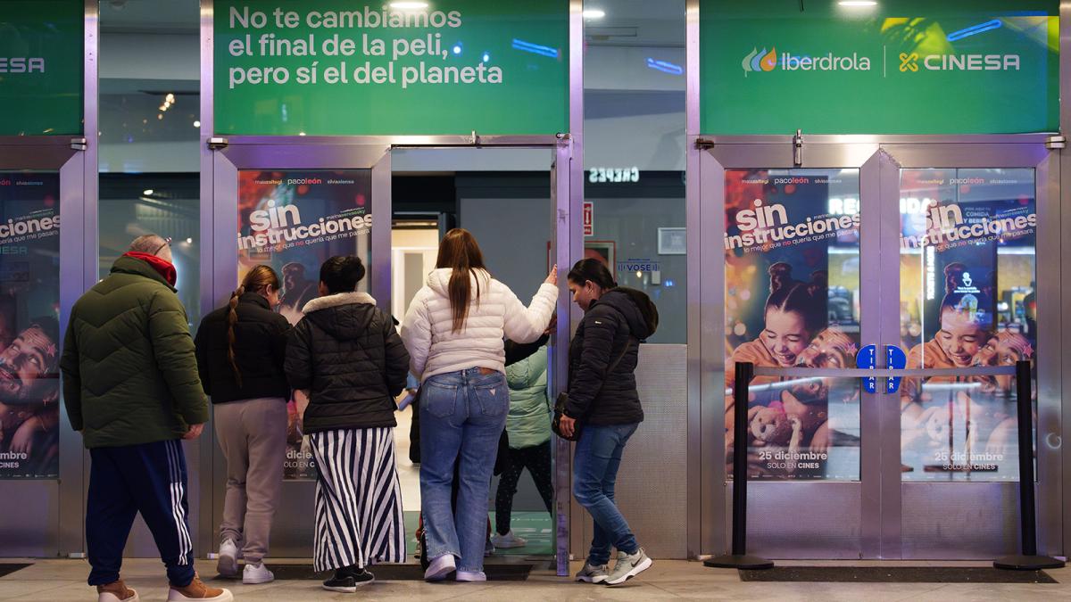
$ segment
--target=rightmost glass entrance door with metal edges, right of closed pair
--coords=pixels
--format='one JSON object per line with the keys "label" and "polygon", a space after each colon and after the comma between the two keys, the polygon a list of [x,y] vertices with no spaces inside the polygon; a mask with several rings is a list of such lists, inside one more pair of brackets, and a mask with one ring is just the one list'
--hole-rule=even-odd
{"label": "rightmost glass entrance door with metal edges, right of closed pair", "polygon": [[[1012,553],[1020,514],[1015,382],[980,372],[1034,363],[1039,532],[1058,533],[1052,500],[1059,456],[1045,441],[1059,432],[1059,396],[1038,394],[1058,377],[1045,351],[1059,342],[1041,333],[1052,321],[1044,280],[1055,277],[1056,264],[1038,261],[1054,244],[1044,237],[1056,237],[1058,249],[1058,229],[1044,225],[1056,200],[1050,151],[1040,141],[890,144],[883,151],[883,217],[899,230],[883,232],[880,260],[883,273],[897,276],[890,280],[899,292],[885,298],[881,343],[899,346],[908,368],[924,371],[889,393],[901,427],[899,445],[884,449],[899,452],[901,466],[899,499],[883,498],[890,505],[883,550],[903,558]],[[890,197],[896,202],[886,202]],[[1039,545],[1056,551],[1059,540]]]}

